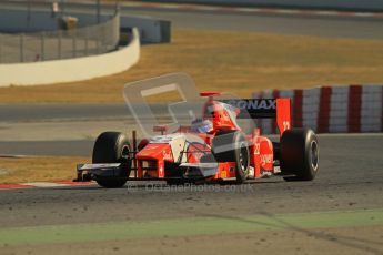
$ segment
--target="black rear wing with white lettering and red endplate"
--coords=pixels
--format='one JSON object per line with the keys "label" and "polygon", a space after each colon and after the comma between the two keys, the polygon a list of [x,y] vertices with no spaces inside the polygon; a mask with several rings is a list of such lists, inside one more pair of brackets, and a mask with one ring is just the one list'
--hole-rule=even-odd
{"label": "black rear wing with white lettering and red endplate", "polygon": [[291,129],[291,99],[219,100],[240,110],[238,119],[275,119],[282,135]]}

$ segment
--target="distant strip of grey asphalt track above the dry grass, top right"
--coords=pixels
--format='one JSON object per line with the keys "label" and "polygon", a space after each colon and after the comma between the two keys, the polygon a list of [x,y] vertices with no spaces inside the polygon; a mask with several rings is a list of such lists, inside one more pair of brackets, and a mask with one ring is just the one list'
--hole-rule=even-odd
{"label": "distant strip of grey asphalt track above the dry grass, top right", "polygon": [[300,34],[331,38],[383,39],[383,19],[122,8],[123,14],[155,17],[174,28]]}

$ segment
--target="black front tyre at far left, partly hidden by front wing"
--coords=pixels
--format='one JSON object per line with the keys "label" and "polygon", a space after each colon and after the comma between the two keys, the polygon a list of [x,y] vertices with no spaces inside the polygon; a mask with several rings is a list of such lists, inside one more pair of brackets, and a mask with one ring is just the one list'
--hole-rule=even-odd
{"label": "black front tyre at far left, partly hidden by front wing", "polygon": [[131,147],[128,137],[119,132],[104,132],[95,140],[93,163],[121,163],[122,171],[118,176],[95,176],[95,182],[102,187],[122,187],[131,170]]}

